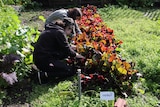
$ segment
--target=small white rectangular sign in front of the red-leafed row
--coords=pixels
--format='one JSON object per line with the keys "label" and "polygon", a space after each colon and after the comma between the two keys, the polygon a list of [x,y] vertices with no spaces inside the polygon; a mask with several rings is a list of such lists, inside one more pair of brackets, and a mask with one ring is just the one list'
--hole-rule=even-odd
{"label": "small white rectangular sign in front of the red-leafed row", "polygon": [[100,99],[101,100],[114,100],[114,92],[112,91],[101,91],[100,92]]}

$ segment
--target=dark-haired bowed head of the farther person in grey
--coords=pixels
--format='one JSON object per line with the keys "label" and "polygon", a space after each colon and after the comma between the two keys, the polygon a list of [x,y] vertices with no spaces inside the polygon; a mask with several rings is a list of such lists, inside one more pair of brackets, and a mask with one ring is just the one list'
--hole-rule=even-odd
{"label": "dark-haired bowed head of the farther person in grey", "polygon": [[73,20],[80,20],[82,17],[81,9],[76,7],[69,9],[68,17],[71,17]]}

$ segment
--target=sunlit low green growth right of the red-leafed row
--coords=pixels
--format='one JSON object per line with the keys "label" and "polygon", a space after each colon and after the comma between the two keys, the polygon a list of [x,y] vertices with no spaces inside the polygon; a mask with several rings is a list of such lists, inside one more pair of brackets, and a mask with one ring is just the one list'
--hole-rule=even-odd
{"label": "sunlit low green growth right of the red-leafed row", "polygon": [[99,13],[117,39],[123,41],[123,58],[134,61],[145,78],[142,87],[146,94],[127,99],[129,105],[154,107],[152,103],[158,101],[155,96],[160,100],[160,9],[108,6]]}

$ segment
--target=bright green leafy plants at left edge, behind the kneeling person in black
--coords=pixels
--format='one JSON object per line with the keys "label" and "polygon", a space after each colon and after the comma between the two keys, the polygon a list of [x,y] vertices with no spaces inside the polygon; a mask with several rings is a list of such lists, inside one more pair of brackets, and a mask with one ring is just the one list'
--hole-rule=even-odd
{"label": "bright green leafy plants at left edge, behind the kneeling person in black", "polygon": [[1,8],[0,16],[0,52],[19,54],[24,64],[32,63],[31,43],[37,39],[39,32],[29,27],[21,27],[17,13],[11,7]]}

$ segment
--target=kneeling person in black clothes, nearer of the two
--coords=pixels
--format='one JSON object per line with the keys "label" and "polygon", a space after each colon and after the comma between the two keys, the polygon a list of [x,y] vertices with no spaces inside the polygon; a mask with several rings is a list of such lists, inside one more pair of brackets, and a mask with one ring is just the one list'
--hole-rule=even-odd
{"label": "kneeling person in black clothes, nearer of the two", "polygon": [[71,18],[57,20],[46,25],[46,29],[40,34],[35,44],[33,60],[41,74],[55,77],[69,77],[76,72],[64,61],[68,57],[84,57],[75,52],[68,43],[67,35],[70,35],[74,26]]}

